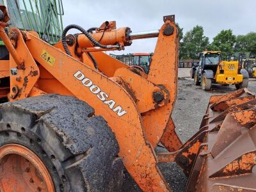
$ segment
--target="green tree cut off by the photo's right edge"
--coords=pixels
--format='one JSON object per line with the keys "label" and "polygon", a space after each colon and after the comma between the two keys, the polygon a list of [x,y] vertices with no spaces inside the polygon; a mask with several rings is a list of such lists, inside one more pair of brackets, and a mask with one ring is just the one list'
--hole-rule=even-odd
{"label": "green tree cut off by the photo's right edge", "polygon": [[253,54],[256,54],[256,33],[250,32],[246,35],[237,35],[235,51],[252,52]]}

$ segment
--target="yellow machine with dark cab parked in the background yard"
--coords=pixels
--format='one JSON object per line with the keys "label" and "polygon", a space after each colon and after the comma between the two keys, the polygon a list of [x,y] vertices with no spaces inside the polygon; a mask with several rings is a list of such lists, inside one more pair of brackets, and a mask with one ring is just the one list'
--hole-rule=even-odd
{"label": "yellow machine with dark cab parked in the background yard", "polygon": [[203,90],[211,90],[212,84],[236,85],[237,90],[248,86],[249,74],[239,61],[222,60],[220,51],[200,53],[199,63],[191,68],[191,77]]}

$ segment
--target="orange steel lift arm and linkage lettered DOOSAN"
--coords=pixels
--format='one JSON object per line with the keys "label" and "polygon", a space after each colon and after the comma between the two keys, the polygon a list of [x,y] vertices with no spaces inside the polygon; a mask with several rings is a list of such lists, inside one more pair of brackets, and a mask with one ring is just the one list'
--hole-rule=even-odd
{"label": "orange steel lift arm and linkage lettered DOOSAN", "polygon": [[[41,40],[35,31],[11,28],[9,38],[6,38],[3,28],[8,15],[4,6],[1,10],[6,20],[1,21],[0,36],[10,52],[10,67],[14,70],[10,76],[9,100],[44,93],[72,95],[84,100],[95,109],[95,115],[103,116],[108,122],[120,147],[118,156],[122,157],[140,188],[143,191],[169,191],[157,168],[154,148],[168,122],[172,122],[170,115],[177,95],[179,42],[173,15],[164,17],[147,76],[99,52],[102,49],[89,47],[98,63],[99,70],[96,70],[85,47],[79,46],[88,42],[83,34],[73,39],[74,44],[68,45],[72,56],[65,54],[61,43],[54,47]],[[119,39],[118,32],[127,33],[127,28],[109,29],[105,32],[106,41],[103,38],[102,42],[106,45],[113,43],[108,42],[108,37],[115,33],[115,40],[119,40],[121,47],[131,43],[132,36]],[[69,36],[71,38],[73,36]],[[168,140],[165,143],[167,145]]]}

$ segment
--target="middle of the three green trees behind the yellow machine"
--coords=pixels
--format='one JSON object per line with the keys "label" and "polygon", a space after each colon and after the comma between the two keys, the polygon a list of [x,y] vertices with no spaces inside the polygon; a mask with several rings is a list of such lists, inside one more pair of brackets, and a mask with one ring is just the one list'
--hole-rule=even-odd
{"label": "middle of the three green trees behind the yellow machine", "polygon": [[213,38],[213,42],[209,49],[211,51],[221,51],[223,55],[234,52],[236,43],[236,35],[233,35],[232,30],[222,30]]}

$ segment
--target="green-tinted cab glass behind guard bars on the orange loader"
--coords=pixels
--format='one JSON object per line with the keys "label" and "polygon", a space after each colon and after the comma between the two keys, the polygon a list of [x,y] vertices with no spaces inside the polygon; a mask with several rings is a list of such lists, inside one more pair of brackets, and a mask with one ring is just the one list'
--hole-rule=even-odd
{"label": "green-tinted cab glass behind guard bars on the orange loader", "polygon": [[36,31],[42,40],[55,44],[63,31],[63,6],[61,0],[0,0],[10,15],[11,27]]}

